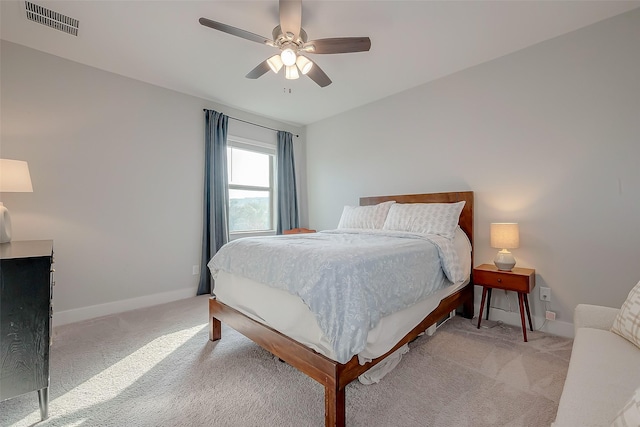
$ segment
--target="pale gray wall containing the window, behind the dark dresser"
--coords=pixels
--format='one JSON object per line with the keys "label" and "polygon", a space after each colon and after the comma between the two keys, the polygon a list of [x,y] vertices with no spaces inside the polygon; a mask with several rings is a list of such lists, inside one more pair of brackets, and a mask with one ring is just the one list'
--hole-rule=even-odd
{"label": "pale gray wall containing the window, behind the dark dresser", "polygon": [[0,54],[0,155],[28,161],[34,187],[2,201],[13,240],[54,240],[56,324],[195,295],[203,108],[300,134],[306,186],[304,129],[6,41]]}

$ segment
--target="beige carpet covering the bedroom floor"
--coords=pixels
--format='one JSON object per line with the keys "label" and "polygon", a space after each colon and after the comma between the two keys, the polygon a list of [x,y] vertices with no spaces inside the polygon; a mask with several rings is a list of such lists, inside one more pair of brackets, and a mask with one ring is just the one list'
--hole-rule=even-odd
{"label": "beige carpet covering the bedroom floor", "polygon": [[[207,297],[57,328],[50,418],[37,394],[0,426],[322,426],[323,388],[235,331],[208,341]],[[488,325],[495,325],[487,322]],[[572,341],[456,317],[379,384],[346,390],[348,426],[549,426]]]}

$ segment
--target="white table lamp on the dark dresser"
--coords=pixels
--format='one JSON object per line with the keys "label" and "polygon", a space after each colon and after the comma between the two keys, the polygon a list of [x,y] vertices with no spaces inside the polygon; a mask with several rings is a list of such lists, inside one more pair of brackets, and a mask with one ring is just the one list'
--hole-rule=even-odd
{"label": "white table lamp on the dark dresser", "polygon": [[[29,165],[22,160],[0,159],[0,193],[31,193]],[[11,241],[11,217],[0,202],[0,243]]]}

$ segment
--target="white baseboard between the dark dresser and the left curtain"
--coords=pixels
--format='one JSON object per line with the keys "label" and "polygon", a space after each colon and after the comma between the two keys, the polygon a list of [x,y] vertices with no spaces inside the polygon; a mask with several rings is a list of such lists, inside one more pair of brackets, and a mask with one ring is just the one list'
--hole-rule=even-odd
{"label": "white baseboard between the dark dresser and the left curtain", "polygon": [[75,308],[72,310],[58,312],[54,311],[53,327],[80,322],[82,320],[93,319],[96,317],[108,316],[109,314],[122,313],[124,311],[135,310],[138,308],[165,304],[172,301],[190,298],[195,295],[195,288],[185,288],[179,289],[177,291],[168,291],[159,294],[145,295],[143,297],[113,301],[105,304],[91,305],[89,307]]}

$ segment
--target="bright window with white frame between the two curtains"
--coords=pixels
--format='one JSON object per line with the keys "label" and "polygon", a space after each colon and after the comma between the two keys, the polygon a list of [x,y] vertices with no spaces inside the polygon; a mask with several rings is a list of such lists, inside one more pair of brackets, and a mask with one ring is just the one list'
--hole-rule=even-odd
{"label": "bright window with white frame between the two curtains", "polygon": [[275,229],[275,147],[227,138],[229,232],[270,232]]}

